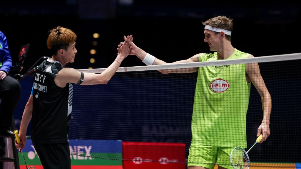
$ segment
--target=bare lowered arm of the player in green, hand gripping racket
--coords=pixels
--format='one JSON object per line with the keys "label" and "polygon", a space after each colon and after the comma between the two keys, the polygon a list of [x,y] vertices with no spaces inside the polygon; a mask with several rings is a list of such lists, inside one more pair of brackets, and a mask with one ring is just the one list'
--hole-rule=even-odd
{"label": "bare lowered arm of the player in green, hand gripping racket", "polygon": [[[249,58],[250,57],[254,57],[254,56],[250,55]],[[270,135],[269,125],[270,125],[270,115],[272,110],[272,99],[260,74],[258,63],[247,64],[246,73],[261,97],[263,119],[262,119],[262,123],[257,129],[257,137],[259,137],[259,135],[262,133],[262,140],[260,141],[260,143],[262,143]]]}

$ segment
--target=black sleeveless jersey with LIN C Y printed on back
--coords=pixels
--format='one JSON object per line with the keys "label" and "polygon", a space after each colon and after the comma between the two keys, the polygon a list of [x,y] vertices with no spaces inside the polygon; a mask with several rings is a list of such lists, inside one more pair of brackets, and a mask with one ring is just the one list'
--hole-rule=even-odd
{"label": "black sleeveless jersey with LIN C Y printed on back", "polygon": [[31,139],[35,144],[67,143],[67,121],[72,110],[71,83],[58,87],[54,78],[64,66],[45,60],[33,76]]}

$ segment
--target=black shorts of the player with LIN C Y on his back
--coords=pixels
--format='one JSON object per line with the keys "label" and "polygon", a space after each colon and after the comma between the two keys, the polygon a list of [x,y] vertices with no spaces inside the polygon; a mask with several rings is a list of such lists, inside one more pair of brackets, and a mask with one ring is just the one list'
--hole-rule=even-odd
{"label": "black shorts of the player with LIN C Y on his back", "polygon": [[69,143],[33,144],[33,146],[44,169],[71,168]]}

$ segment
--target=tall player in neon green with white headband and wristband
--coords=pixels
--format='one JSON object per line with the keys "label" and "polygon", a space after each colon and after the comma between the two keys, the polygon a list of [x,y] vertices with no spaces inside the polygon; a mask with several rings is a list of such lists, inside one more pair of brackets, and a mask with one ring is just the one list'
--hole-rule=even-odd
{"label": "tall player in neon green with white headband and wristband", "polygon": [[[232,19],[218,16],[203,22],[205,39],[213,54],[196,54],[187,60],[166,63],[146,53],[135,44],[129,55],[136,55],[147,65],[229,60],[253,57],[231,45]],[[120,43],[119,48],[123,45]],[[117,50],[119,50],[117,48]],[[262,100],[263,120],[257,131],[262,141],[270,135],[269,123],[272,109],[271,96],[261,77],[257,63],[209,66],[161,71],[162,73],[197,72],[197,84],[192,115],[192,141],[189,149],[189,169],[229,168],[233,147],[247,148],[246,114],[251,82]]]}

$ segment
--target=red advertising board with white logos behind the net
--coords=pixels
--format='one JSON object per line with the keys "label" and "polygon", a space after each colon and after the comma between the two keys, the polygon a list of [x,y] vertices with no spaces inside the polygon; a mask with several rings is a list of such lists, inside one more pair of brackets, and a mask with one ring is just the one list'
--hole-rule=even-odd
{"label": "red advertising board with white logos behind the net", "polygon": [[122,142],[122,146],[123,169],[185,169],[184,143]]}

